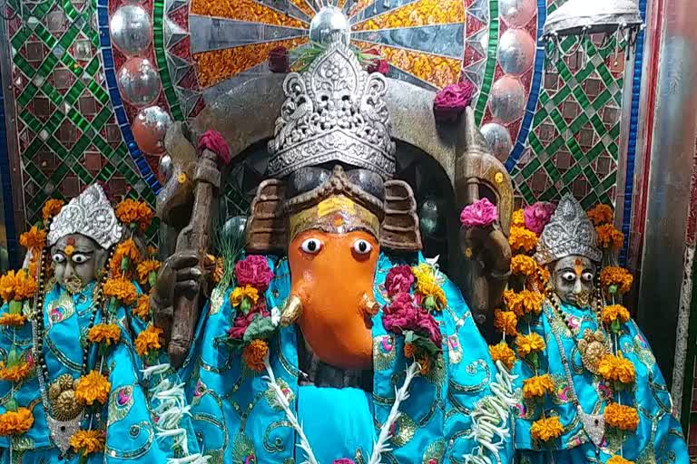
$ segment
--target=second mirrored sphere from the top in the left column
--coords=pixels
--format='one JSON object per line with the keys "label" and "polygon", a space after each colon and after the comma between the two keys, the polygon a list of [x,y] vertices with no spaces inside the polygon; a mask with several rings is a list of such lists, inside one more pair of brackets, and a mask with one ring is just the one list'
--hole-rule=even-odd
{"label": "second mirrored sphere from the top in the left column", "polygon": [[123,99],[135,106],[145,106],[160,94],[160,75],[145,58],[131,58],[116,75]]}

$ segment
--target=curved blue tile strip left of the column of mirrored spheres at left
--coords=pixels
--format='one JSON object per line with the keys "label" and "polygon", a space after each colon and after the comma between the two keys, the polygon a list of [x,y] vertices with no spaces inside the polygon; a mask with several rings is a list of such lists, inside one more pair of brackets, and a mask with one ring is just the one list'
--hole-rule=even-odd
{"label": "curved blue tile strip left of the column of mirrored spheres at left", "polygon": [[116,113],[116,121],[119,124],[119,129],[121,130],[123,140],[126,142],[129,153],[131,153],[131,158],[138,167],[141,173],[142,179],[148,184],[148,187],[152,189],[155,195],[160,193],[162,186],[160,181],[155,177],[155,174],[150,169],[148,162],[145,160],[145,156],[142,151],[138,148],[138,144],[133,139],[133,131],[131,131],[131,125],[128,122],[128,117],[126,116],[126,111],[123,108],[123,102],[121,100],[121,94],[116,86],[116,70],[113,63],[113,53],[112,53],[112,42],[111,36],[109,35],[109,1],[108,0],[97,0],[97,24],[99,26],[99,43],[102,49],[102,60],[104,66],[104,76],[106,77],[106,86],[109,92],[109,98],[112,101],[113,111]]}

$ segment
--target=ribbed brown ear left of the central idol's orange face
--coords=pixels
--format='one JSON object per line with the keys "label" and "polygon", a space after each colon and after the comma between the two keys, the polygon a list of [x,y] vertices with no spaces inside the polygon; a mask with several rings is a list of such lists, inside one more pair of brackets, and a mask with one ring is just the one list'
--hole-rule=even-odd
{"label": "ribbed brown ear left of the central idol's orange face", "polygon": [[251,202],[247,251],[262,254],[286,251],[285,197],[286,186],[282,180],[269,179],[260,183],[257,195]]}

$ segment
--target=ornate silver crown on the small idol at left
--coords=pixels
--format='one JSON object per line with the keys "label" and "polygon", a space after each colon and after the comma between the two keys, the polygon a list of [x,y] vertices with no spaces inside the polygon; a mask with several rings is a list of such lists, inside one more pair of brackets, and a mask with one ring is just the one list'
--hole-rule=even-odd
{"label": "ornate silver crown on the small idol at left", "polygon": [[80,234],[92,238],[100,247],[110,248],[121,239],[122,231],[103,189],[93,184],[61,208],[51,222],[48,245],[54,246],[61,237]]}

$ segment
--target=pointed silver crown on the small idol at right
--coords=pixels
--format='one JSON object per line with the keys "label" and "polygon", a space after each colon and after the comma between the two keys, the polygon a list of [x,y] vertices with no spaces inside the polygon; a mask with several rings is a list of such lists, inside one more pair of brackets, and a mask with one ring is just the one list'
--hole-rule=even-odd
{"label": "pointed silver crown on the small idol at right", "polygon": [[603,257],[597,247],[593,222],[570,193],[559,201],[555,214],[537,240],[535,259],[546,265],[565,256],[585,256],[596,262]]}

